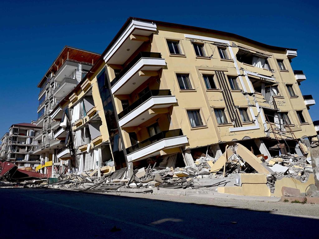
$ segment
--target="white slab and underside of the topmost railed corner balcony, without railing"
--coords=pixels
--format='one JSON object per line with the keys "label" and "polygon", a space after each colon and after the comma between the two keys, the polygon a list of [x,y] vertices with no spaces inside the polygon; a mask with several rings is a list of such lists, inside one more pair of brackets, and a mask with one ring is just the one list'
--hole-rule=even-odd
{"label": "white slab and underside of the topmost railed corner balcony, without railing", "polygon": [[132,93],[150,76],[139,76],[140,70],[157,71],[166,66],[165,59],[142,57],[112,87],[112,94],[126,95]]}

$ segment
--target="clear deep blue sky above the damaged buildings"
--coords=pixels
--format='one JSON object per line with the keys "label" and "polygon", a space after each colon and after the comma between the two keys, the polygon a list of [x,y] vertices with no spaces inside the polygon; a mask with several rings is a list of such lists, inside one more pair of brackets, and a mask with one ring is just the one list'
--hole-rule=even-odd
{"label": "clear deep blue sky above the damaged buildings", "polygon": [[[63,46],[102,53],[128,17],[149,18],[236,33],[298,49],[304,95],[319,120],[317,1],[2,1],[0,8],[0,134],[37,119],[37,84]],[[0,137],[1,137],[0,136]]]}

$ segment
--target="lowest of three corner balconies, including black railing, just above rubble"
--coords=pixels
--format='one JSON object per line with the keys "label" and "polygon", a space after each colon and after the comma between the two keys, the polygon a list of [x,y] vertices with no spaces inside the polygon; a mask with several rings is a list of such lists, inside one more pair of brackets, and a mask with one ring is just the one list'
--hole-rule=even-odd
{"label": "lowest of three corner balconies, including black railing, just above rubble", "polygon": [[163,150],[178,148],[186,144],[188,144],[188,139],[186,135],[183,135],[181,129],[163,131],[126,148],[127,160],[132,162],[161,155]]}

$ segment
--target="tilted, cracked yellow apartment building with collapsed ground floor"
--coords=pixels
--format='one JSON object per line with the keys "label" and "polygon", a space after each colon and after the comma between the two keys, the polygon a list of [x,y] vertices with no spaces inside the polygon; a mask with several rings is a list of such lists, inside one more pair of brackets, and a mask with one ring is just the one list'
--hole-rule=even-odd
{"label": "tilted, cracked yellow apartment building with collapsed ground floor", "polygon": [[66,142],[56,164],[193,166],[196,155],[219,158],[238,141],[256,155],[303,155],[316,140],[315,100],[300,91],[296,56],[233,33],[129,18],[52,108],[61,126],[53,140]]}

